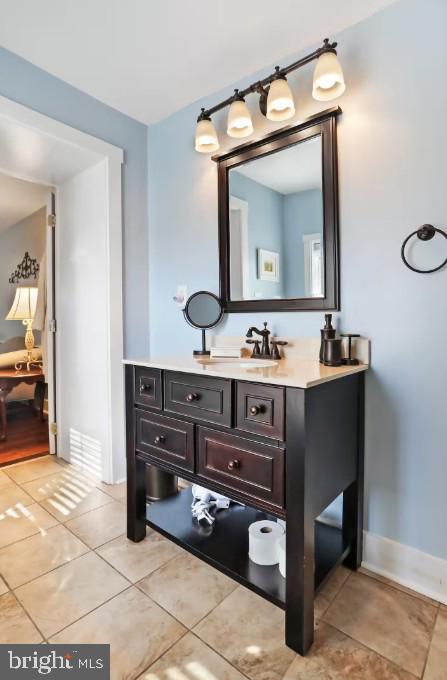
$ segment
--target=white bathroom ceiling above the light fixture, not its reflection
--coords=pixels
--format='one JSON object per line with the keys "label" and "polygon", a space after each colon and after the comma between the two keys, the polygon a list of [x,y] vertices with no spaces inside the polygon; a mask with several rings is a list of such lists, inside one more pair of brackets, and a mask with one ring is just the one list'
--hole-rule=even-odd
{"label": "white bathroom ceiling above the light fixture, not its reflection", "polygon": [[150,124],[394,0],[0,0],[0,44]]}

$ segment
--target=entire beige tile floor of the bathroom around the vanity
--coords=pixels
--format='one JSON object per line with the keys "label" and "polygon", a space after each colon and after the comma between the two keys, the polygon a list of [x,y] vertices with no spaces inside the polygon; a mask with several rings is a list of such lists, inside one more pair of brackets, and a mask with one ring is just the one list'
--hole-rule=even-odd
{"label": "entire beige tile floor of the bathroom around the vanity", "polygon": [[447,607],[340,567],[306,658],[284,615],[157,533],[125,487],[47,456],[0,471],[0,643],[106,642],[113,680],[447,679]]}

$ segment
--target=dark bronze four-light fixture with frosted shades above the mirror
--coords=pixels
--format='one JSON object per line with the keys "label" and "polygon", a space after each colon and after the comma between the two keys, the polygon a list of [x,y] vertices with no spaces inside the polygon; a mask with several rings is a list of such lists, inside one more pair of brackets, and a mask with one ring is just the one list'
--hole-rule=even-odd
{"label": "dark bronze four-light fixture with frosted shades above the mirror", "polygon": [[337,59],[337,43],[330,43],[328,38],[323,46],[298,59],[289,66],[276,66],[271,75],[252,83],[245,90],[235,90],[231,97],[221,101],[209,109],[202,109],[197,118],[195,148],[199,153],[212,153],[219,148],[219,140],[211,121],[211,116],[221,109],[230,107],[228,112],[227,134],[229,137],[248,137],[253,132],[250,111],[245,103],[249,94],[259,95],[259,108],[264,116],[275,122],[288,120],[295,115],[293,94],[286,76],[292,71],[317,59],[314,72],[312,96],[319,101],[336,99],[346,89],[343,71]]}

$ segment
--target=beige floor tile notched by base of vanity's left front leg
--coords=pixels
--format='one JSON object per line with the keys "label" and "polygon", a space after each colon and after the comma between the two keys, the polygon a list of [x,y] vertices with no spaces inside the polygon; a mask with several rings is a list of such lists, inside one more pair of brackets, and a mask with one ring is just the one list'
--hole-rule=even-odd
{"label": "beige floor tile notched by base of vanity's left front leg", "polygon": [[136,583],[183,551],[148,529],[144,541],[134,543],[126,536],[120,536],[98,548],[97,552],[129,581]]}

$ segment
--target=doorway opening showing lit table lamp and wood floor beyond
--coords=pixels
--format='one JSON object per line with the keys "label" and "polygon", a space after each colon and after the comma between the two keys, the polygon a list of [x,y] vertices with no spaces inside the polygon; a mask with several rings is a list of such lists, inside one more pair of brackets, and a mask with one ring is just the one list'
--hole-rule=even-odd
{"label": "doorway opening showing lit table lamp and wood floor beyond", "polygon": [[0,173],[0,466],[49,453],[43,323],[49,190]]}

